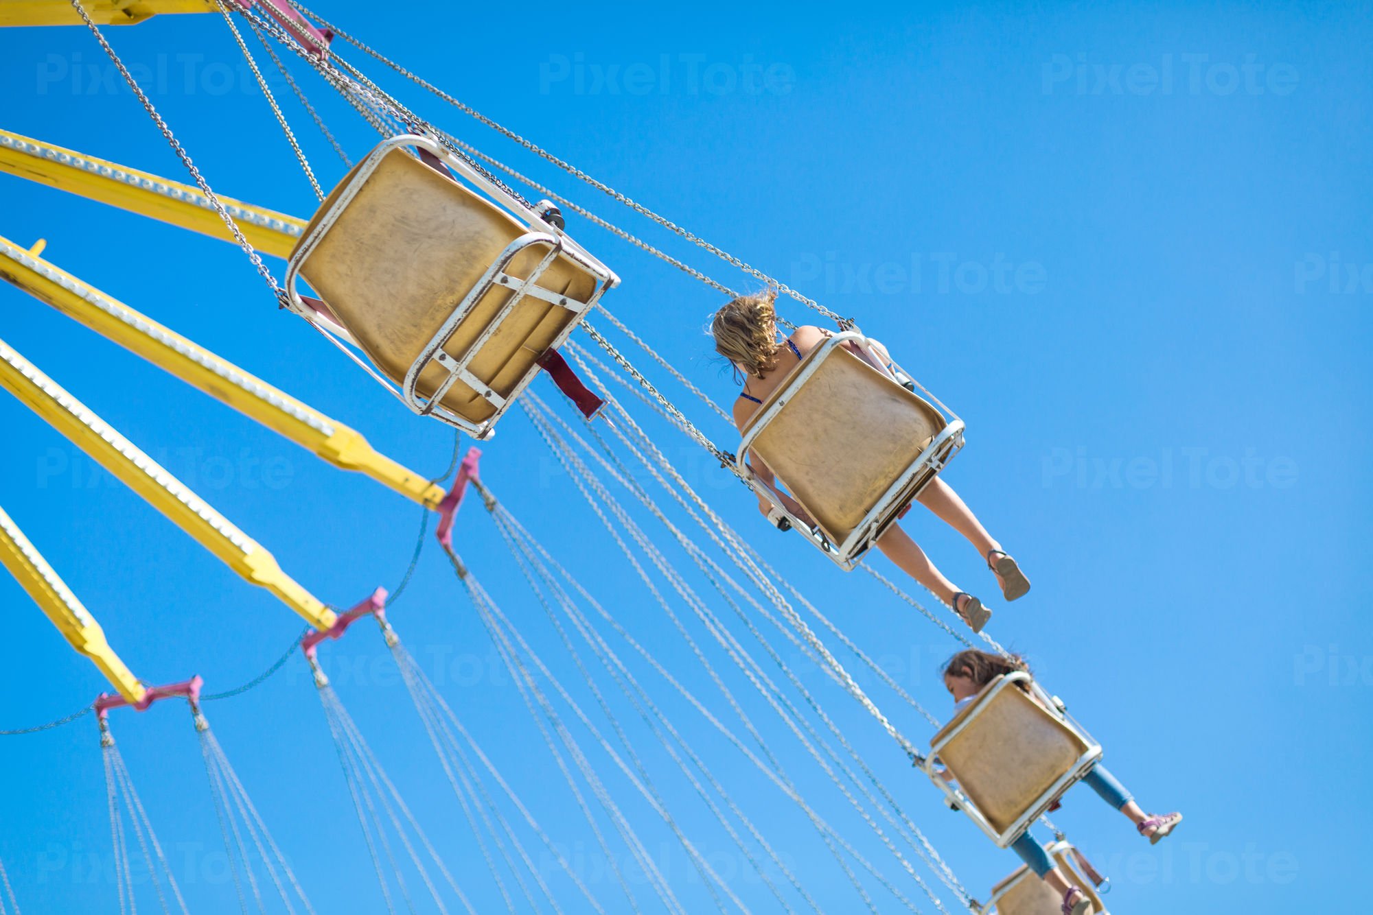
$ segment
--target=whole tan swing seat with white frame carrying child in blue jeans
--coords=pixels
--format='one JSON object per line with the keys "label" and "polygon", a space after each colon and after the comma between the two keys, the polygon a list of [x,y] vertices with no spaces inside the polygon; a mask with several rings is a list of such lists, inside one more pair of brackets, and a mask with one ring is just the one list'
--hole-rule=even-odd
{"label": "whole tan swing seat with white frame carrying child in blue jeans", "polygon": [[[1015,672],[983,687],[935,734],[925,771],[953,807],[1006,848],[1100,759],[1101,745],[1028,675]],[[935,772],[936,763],[957,785]]]}

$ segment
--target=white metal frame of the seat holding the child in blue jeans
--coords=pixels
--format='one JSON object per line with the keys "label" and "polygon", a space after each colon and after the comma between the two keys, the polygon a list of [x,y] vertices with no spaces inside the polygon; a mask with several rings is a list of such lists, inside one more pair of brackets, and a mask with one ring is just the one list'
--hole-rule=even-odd
{"label": "white metal frame of the seat holding the child in blue jeans", "polygon": [[[1039,705],[1049,713],[1063,722],[1071,731],[1074,731],[1083,744],[1086,744],[1086,750],[1074,761],[1072,767],[1060,775],[1054,782],[1045,789],[1038,798],[1034,800],[1020,815],[1002,831],[998,831],[983,815],[978,805],[969,798],[961,787],[945,781],[936,771],[935,767],[939,764],[939,750],[942,750],[947,744],[961,734],[969,724],[978,720],[978,715],[982,709],[987,708],[991,700],[1006,689],[1022,689],[1024,685],[1030,689],[1031,698],[1038,698]],[[946,803],[954,809],[961,809],[964,813],[978,824],[983,833],[997,844],[998,848],[1008,848],[1013,841],[1020,838],[1020,834],[1030,829],[1031,823],[1043,816],[1043,813],[1053,807],[1063,794],[1082,781],[1082,778],[1092,771],[1098,761],[1101,761],[1101,745],[1097,744],[1086,728],[1083,728],[1076,719],[1068,715],[1067,706],[1056,696],[1049,696],[1028,674],[1023,671],[1015,671],[1012,674],[1002,675],[998,678],[990,689],[986,689],[982,696],[978,697],[972,708],[962,713],[962,720],[960,720],[947,734],[939,734],[936,739],[930,745],[930,754],[925,757],[924,771],[943,793]]]}

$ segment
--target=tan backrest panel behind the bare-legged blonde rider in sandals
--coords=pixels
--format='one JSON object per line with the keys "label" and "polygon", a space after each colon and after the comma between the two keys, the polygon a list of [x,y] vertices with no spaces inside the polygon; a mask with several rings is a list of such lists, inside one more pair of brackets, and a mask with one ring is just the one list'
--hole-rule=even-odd
{"label": "tan backrest panel behind the bare-legged blonde rider in sandals", "polygon": [[[816,372],[796,384],[817,362]],[[781,398],[787,402],[752,450],[833,543],[858,527],[946,425],[939,410],[846,346],[806,354],[744,432]]]}

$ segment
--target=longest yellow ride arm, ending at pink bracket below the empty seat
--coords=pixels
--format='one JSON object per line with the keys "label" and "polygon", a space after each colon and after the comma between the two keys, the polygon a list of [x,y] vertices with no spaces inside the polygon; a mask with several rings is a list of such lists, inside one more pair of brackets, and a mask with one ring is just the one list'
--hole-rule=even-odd
{"label": "longest yellow ride arm, ending at pink bracket below the empty seat", "polygon": [[442,487],[379,454],[360,432],[59,270],[37,257],[36,251],[25,250],[4,237],[0,237],[0,278],[309,449],[334,466],[365,473],[431,509],[437,509],[443,501]]}

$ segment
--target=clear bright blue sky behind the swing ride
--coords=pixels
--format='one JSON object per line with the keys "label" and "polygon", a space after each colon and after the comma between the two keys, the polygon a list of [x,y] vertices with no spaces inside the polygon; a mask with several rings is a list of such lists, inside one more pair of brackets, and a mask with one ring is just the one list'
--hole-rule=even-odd
{"label": "clear bright blue sky behind the swing ride", "polygon": [[[1362,776],[1373,712],[1363,612],[1373,444],[1368,3],[707,3],[689,11],[600,3],[519,16],[428,1],[406,4],[404,15],[347,0],[321,7],[464,102],[858,317],[967,420],[968,447],[947,479],[1034,579],[1023,601],[991,602],[993,631],[1030,656],[1146,807],[1188,818],[1168,844],[1149,849],[1090,792],[1070,796],[1056,819],[1114,878],[1112,911],[1347,904],[1373,800]],[[108,34],[146,67],[155,103],[216,188],[312,211],[309,185],[222,22],[163,16]],[[372,143],[365,125],[297,70],[345,147],[361,155]],[[185,180],[86,32],[4,30],[0,85],[5,129]],[[593,211],[625,215],[459,111],[387,85]],[[284,92],[275,74],[273,86]],[[283,106],[321,180],[336,181],[342,163],[294,99]],[[0,203],[5,237],[45,237],[45,257],[59,266],[338,416],[397,460],[426,473],[446,464],[448,431],[411,417],[301,321],[277,313],[233,247],[19,178],[0,177]],[[700,332],[721,296],[579,219],[570,228],[623,277],[607,306],[728,402],[730,380]],[[632,228],[724,281],[752,283],[643,221]],[[394,586],[419,521],[412,505],[10,287],[0,302],[10,344],[320,597],[349,605]],[[800,306],[788,314],[806,320]],[[695,405],[692,416],[711,423]],[[227,689],[298,632],[268,594],[233,578],[16,402],[0,399],[0,503],[143,679],[198,672],[209,690]],[[799,538],[769,531],[707,457],[654,428],[688,479],[794,583],[905,689],[947,713],[936,665],[956,642],[866,576],[844,576]],[[728,440],[718,421],[708,428]],[[728,713],[555,468],[518,413],[486,447],[485,476],[511,510]],[[979,557],[950,531],[919,513],[908,527],[965,589],[994,594]],[[575,685],[575,668],[476,505],[460,517],[457,545]],[[0,728],[58,717],[102,690],[96,671],[7,578],[0,601]],[[575,851],[607,910],[627,911],[437,550],[422,558],[393,619],[544,826]],[[781,652],[796,660],[791,646]],[[360,631],[323,657],[478,910],[496,911],[500,897],[379,639]],[[1013,856],[946,811],[814,668],[805,676],[984,897]],[[795,808],[660,682],[643,679],[821,905],[857,911]],[[817,809],[917,899],[762,701],[741,678],[730,682]],[[382,911],[313,691],[292,658],[262,687],[207,713],[316,910]],[[928,738],[928,726],[890,691],[875,686],[873,696],[902,730]],[[117,715],[114,727],[192,911],[238,911],[184,711]],[[648,746],[627,712],[626,727]],[[604,756],[593,759],[688,911],[708,911],[667,830]],[[741,899],[773,911],[666,759],[648,760]],[[93,722],[0,738],[0,859],[23,911],[117,911]],[[647,889],[638,892],[652,908]],[[873,892],[894,911],[890,896]],[[582,911],[575,897],[564,901]]]}

